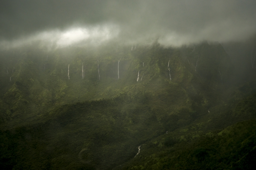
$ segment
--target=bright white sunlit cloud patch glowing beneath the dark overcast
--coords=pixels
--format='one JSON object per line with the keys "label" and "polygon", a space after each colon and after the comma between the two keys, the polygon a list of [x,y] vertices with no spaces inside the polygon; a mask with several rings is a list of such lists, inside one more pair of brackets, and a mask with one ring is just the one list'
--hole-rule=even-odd
{"label": "bright white sunlit cloud patch glowing beneath the dark overcast", "polygon": [[40,32],[14,41],[1,41],[0,47],[15,48],[37,42],[39,42],[41,46],[50,48],[64,48],[75,44],[90,44],[97,46],[117,37],[118,33],[119,29],[114,25],[73,27],[64,31],[54,30]]}

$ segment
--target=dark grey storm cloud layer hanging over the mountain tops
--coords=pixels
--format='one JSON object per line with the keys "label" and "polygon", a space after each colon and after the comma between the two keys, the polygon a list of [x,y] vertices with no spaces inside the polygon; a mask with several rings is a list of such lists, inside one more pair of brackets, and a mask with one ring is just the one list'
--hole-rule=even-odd
{"label": "dark grey storm cloud layer hanging over the mountain tops", "polygon": [[[29,41],[48,32],[58,41],[69,29],[95,35],[92,30],[97,28],[128,43],[156,38],[174,46],[203,40],[238,41],[255,34],[255,9],[255,0],[2,0],[0,37]],[[96,34],[98,39],[103,35]]]}

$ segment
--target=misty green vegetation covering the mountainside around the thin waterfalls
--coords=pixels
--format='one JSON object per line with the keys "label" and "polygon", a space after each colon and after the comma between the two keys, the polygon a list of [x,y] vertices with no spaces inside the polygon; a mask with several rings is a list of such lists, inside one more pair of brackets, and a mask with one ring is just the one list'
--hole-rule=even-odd
{"label": "misty green vegetation covering the mountainside around the thin waterfalls", "polygon": [[1,169],[253,165],[256,82],[230,85],[234,68],[220,44],[27,48],[0,60]]}

